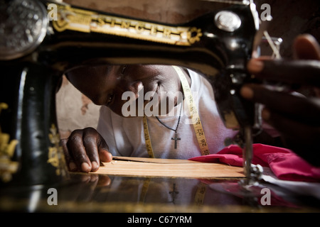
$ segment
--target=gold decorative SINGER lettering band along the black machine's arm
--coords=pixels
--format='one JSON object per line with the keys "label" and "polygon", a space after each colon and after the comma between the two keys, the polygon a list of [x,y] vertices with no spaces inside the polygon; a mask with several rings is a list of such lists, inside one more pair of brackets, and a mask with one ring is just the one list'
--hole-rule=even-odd
{"label": "gold decorative SINGER lettering band along the black machine's arm", "polygon": [[55,31],[80,31],[82,33],[105,33],[156,43],[192,45],[200,41],[201,28],[188,26],[164,26],[158,23],[138,21],[119,16],[108,16],[73,8],[68,4],[58,5],[58,18],[53,21]]}

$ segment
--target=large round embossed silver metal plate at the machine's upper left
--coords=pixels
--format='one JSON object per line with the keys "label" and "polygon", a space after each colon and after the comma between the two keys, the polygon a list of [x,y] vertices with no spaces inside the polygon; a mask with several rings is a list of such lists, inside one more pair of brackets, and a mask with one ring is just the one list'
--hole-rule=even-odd
{"label": "large round embossed silver metal plate at the machine's upper left", "polygon": [[28,55],[41,45],[48,26],[47,11],[39,1],[15,0],[2,4],[0,60]]}

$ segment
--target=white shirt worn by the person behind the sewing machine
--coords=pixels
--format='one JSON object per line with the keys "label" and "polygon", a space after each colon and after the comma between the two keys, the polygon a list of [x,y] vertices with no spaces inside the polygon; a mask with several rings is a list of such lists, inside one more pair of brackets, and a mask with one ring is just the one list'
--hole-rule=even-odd
{"label": "white shirt worn by the person behind the sewing machine", "polygon": [[[238,131],[225,128],[218,114],[210,83],[201,75],[188,70],[191,77],[191,92],[198,108],[198,113],[206,135],[210,153],[218,153],[225,147],[225,139],[233,138]],[[198,140],[191,124],[186,99],[177,133],[177,149],[174,148],[175,132],[164,127],[154,116],[147,117],[149,135],[151,138],[154,157],[188,159],[200,156]],[[181,104],[175,106],[180,111]],[[159,117],[166,126],[176,128],[178,116]],[[107,106],[100,109],[97,131],[105,138],[109,151],[114,156],[149,157],[144,138],[143,117],[124,118],[114,114]]]}

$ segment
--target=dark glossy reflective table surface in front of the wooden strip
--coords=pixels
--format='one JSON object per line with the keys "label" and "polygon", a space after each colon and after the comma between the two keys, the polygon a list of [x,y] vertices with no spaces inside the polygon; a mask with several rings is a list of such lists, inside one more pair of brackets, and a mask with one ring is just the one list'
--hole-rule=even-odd
{"label": "dark glossy reflective table surface in front of the wooden strip", "polygon": [[[2,187],[11,212],[319,212],[320,200],[243,178],[130,177],[71,173],[53,185]],[[267,189],[267,191],[266,191]],[[269,197],[267,197],[269,196]],[[268,200],[269,199],[269,200]]]}

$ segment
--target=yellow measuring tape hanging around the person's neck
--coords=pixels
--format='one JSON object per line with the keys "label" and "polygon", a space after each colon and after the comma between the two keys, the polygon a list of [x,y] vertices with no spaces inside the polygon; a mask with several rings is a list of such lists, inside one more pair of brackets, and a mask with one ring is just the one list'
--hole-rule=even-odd
{"label": "yellow measuring tape hanging around the person's neck", "polygon": [[[200,116],[198,114],[198,109],[196,108],[196,104],[194,104],[194,101],[193,101],[193,95],[192,95],[188,80],[186,79],[186,76],[183,74],[180,67],[177,67],[177,66],[173,66],[173,67],[174,67],[174,70],[176,70],[176,72],[178,73],[178,76],[182,84],[183,93],[188,104],[191,122],[193,124],[194,132],[196,133],[196,138],[198,140],[201,155],[209,155],[210,152],[209,152],[208,143],[206,140],[206,135],[203,131],[203,126],[200,120]],[[149,157],[154,157],[154,151],[152,150],[151,138],[149,135],[149,128],[148,128],[148,122],[146,120],[146,116],[143,117],[143,121],[144,121],[144,139],[146,140],[146,150],[148,152]]]}

